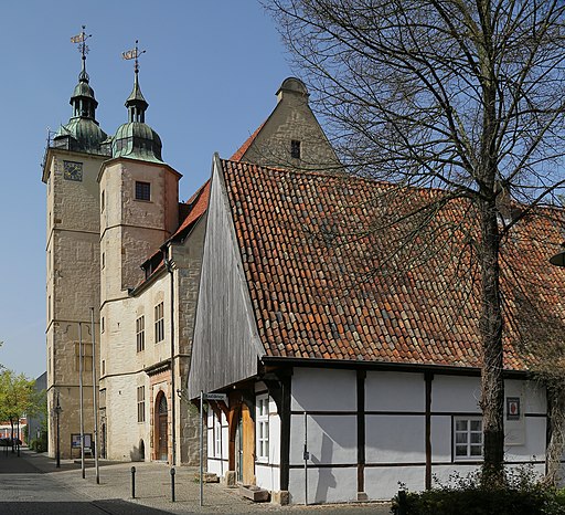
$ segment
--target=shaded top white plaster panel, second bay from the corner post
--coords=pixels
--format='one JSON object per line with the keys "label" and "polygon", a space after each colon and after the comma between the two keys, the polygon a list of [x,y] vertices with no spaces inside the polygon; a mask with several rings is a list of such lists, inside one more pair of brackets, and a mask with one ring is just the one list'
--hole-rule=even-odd
{"label": "shaded top white plaster panel, second bay from the corner post", "polygon": [[423,374],[367,372],[365,379],[366,411],[424,411]]}

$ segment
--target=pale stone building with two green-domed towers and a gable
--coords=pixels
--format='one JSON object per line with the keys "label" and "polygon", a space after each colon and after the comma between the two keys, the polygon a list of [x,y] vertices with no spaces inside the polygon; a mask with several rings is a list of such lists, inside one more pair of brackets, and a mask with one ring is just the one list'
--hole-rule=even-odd
{"label": "pale stone building with two green-domed towers and a gable", "polygon": [[[145,122],[137,64],[135,72],[128,120],[108,136],[83,56],[73,116],[45,155],[50,454],[58,439],[62,458],[79,455],[81,412],[85,445],[94,440],[96,395],[100,456],[195,464],[199,416],[185,386],[210,185],[179,202],[181,174]],[[287,78],[277,96],[233,159],[337,165],[305,85]]]}

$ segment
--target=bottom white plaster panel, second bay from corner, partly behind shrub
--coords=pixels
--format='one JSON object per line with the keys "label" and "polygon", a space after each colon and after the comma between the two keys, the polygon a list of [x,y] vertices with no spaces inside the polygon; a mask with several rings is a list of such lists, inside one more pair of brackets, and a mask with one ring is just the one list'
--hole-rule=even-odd
{"label": "bottom white plaster panel, second bay from corner, partly behind shrub", "polygon": [[398,483],[409,491],[425,488],[424,466],[365,466],[365,493],[373,501],[391,501]]}

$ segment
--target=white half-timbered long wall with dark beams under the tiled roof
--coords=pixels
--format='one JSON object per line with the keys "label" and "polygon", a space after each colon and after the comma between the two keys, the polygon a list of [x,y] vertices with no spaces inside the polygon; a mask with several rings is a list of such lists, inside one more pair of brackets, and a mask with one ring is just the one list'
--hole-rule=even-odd
{"label": "white half-timbered long wall with dark beams under the tiled roof", "polygon": [[[388,500],[398,490],[398,482],[418,491],[426,487],[426,476],[431,483],[435,477],[445,482],[455,471],[466,474],[480,466],[480,459],[456,458],[454,446],[455,421],[481,417],[478,377],[367,371],[361,376],[364,402],[358,412],[359,380],[353,370],[295,368],[289,473],[292,503],[305,502],[305,411],[309,503],[348,502],[363,498],[363,494],[369,500]],[[426,382],[430,385],[428,467]],[[542,473],[544,392],[534,382],[507,380],[505,397],[519,398],[521,404],[520,417],[504,421],[507,462],[533,463]]]}

